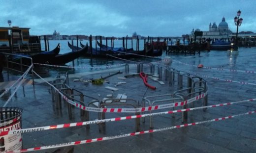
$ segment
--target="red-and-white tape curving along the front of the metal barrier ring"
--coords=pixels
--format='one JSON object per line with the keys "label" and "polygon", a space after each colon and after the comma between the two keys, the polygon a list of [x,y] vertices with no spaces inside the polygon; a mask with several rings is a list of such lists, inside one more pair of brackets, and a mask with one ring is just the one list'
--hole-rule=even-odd
{"label": "red-and-white tape curving along the front of the metal barrier ring", "polygon": [[[34,71],[33,71],[34,72]],[[36,72],[34,72],[38,77],[40,77]],[[74,102],[69,100],[64,94],[62,94],[56,87],[54,87],[51,83],[47,82],[45,79],[40,77],[43,81],[45,81],[47,84],[52,86],[54,90],[58,91],[58,93],[61,95],[61,97],[68,103],[74,105],[77,108],[80,108],[82,110],[86,111],[92,111],[92,112],[109,112],[109,113],[137,113],[137,112],[145,112],[150,110],[158,110],[158,109],[164,109],[164,108],[171,108],[171,107],[177,107],[177,106],[183,106],[185,104],[197,101],[207,95],[208,92],[205,92],[201,95],[198,95],[196,97],[193,97],[189,100],[186,100],[184,102],[175,102],[175,103],[168,103],[168,104],[161,104],[161,105],[155,105],[155,106],[147,106],[147,107],[139,107],[139,108],[96,108],[96,107],[87,107],[80,103]]]}

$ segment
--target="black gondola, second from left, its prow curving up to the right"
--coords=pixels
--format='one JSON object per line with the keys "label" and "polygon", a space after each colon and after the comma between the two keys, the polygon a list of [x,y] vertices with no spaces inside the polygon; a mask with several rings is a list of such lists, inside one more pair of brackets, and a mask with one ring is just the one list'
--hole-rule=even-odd
{"label": "black gondola, second from left, its prow curving up to the right", "polygon": [[64,65],[80,56],[84,56],[85,54],[87,54],[87,51],[88,45],[78,51],[71,51],[64,54],[56,55],[54,58],[49,60],[48,63],[52,65]]}

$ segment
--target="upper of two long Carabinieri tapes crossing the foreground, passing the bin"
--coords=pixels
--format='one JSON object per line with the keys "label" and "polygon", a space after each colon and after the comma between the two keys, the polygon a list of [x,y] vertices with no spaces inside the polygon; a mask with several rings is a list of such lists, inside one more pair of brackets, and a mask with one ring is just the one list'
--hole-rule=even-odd
{"label": "upper of two long Carabinieri tapes crossing the foreground, passing the bin", "polygon": [[136,118],[157,116],[157,115],[164,115],[164,114],[173,114],[173,113],[177,113],[177,112],[185,112],[185,111],[192,111],[192,110],[212,108],[212,107],[215,108],[215,107],[219,107],[219,106],[226,106],[226,105],[231,105],[231,104],[237,104],[237,103],[242,103],[242,102],[253,102],[253,101],[256,101],[256,99],[249,99],[249,100],[238,101],[238,102],[227,102],[227,103],[214,104],[214,105],[210,105],[210,106],[201,106],[201,107],[186,108],[186,109],[157,112],[157,113],[149,113],[149,114],[142,114],[142,115],[117,117],[117,118],[110,118],[110,119],[96,120],[96,121],[66,123],[66,124],[61,124],[61,125],[53,125],[53,126],[45,126],[45,127],[37,127],[37,128],[23,128],[23,129],[17,129],[17,130],[2,131],[2,132],[0,132],[0,136],[8,135],[8,134],[17,134],[17,133],[29,133],[29,132],[43,131],[43,130],[49,130],[49,129],[79,127],[79,126],[100,124],[100,123],[107,123],[107,122],[116,122],[116,121],[122,121],[122,120],[129,120],[129,119],[136,119]]}

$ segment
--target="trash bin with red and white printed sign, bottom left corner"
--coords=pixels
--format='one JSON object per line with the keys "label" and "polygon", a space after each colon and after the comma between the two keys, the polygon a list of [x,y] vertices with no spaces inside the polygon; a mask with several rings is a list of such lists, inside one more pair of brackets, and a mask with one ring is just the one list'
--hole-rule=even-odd
{"label": "trash bin with red and white printed sign, bottom left corner", "polygon": [[[0,132],[21,129],[22,109],[17,107],[0,107]],[[22,149],[21,133],[0,137],[0,152]]]}

